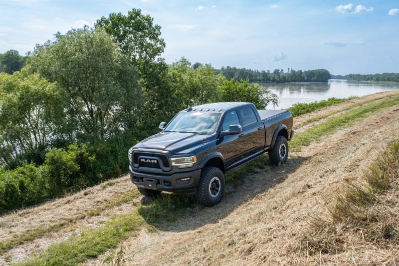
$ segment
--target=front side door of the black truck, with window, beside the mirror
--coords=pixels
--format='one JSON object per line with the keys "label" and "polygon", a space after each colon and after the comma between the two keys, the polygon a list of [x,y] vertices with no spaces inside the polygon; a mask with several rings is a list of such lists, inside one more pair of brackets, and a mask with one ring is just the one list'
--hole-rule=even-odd
{"label": "front side door of the black truck, with window, beside the mirror", "polygon": [[[236,110],[228,112],[223,118],[221,130],[228,130],[230,125],[240,125],[240,120]],[[223,157],[225,158],[225,166],[229,168],[232,164],[239,160],[240,149],[237,148],[239,135],[230,135],[223,137]]]}

